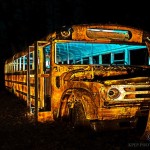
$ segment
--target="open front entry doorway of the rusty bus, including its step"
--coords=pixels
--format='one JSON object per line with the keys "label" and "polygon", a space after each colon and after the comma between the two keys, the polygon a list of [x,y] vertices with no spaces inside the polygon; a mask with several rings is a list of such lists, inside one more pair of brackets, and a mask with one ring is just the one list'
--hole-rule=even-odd
{"label": "open front entry doorway of the rusty bus, including its step", "polygon": [[[52,120],[50,103],[50,45],[47,41],[35,43],[35,118]],[[37,62],[37,63],[36,63]],[[36,115],[37,113],[37,115]]]}

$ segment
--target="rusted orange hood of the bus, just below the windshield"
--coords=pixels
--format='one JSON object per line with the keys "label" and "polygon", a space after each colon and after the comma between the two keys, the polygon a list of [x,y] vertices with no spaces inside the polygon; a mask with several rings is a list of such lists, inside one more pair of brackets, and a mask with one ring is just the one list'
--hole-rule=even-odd
{"label": "rusted orange hood of the bus, just below the windshield", "polygon": [[[131,78],[150,76],[150,67],[145,66],[88,66],[67,72],[65,81],[106,82],[110,80],[124,81]],[[146,79],[147,80],[147,79]],[[130,81],[129,81],[130,82]]]}

